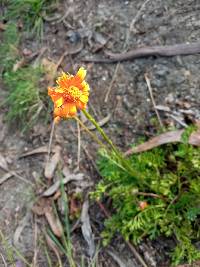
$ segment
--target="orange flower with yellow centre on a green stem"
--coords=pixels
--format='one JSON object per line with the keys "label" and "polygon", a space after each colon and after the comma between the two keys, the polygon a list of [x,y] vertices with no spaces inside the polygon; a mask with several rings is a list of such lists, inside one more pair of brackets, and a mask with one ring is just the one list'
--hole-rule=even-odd
{"label": "orange flower with yellow centre on a green stem", "polygon": [[89,96],[89,85],[85,82],[86,70],[81,67],[76,75],[62,73],[56,87],[48,88],[48,95],[54,102],[55,122],[60,118],[71,118],[77,109],[85,109]]}

